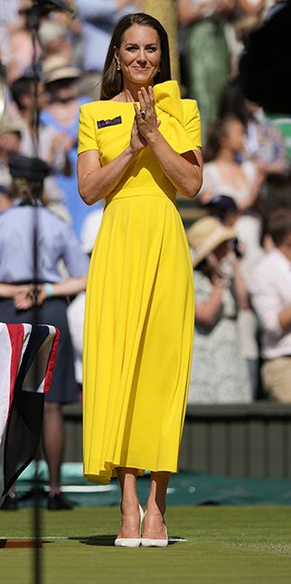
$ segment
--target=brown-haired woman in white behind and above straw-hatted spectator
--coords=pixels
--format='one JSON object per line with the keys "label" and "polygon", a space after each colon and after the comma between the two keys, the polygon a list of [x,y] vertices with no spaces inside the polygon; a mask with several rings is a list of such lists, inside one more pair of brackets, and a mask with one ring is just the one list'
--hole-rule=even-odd
{"label": "brown-haired woman in white behind and above straw-hatted spectator", "polygon": [[[226,117],[214,122],[209,129],[205,147],[203,185],[198,195],[207,203],[216,194],[232,197],[240,211],[235,223],[238,237],[244,246],[241,270],[247,286],[251,272],[264,255],[260,245],[261,217],[257,209],[260,183],[263,179],[251,161],[237,161],[244,147],[244,127],[239,119]],[[258,391],[259,345],[257,323],[251,308],[239,311],[242,354],[247,360],[253,394]]]}

